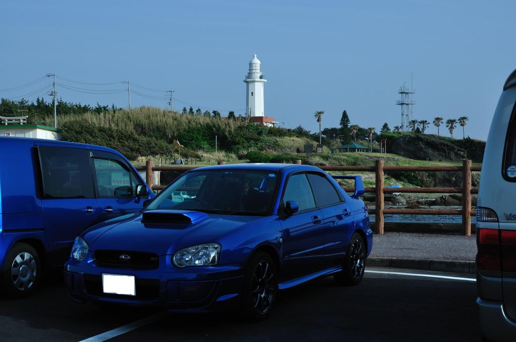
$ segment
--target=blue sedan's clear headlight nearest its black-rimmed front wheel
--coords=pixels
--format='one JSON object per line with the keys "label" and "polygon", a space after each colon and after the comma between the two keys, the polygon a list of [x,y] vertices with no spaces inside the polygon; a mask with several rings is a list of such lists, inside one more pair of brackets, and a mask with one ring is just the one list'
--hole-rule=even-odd
{"label": "blue sedan's clear headlight nearest its black-rimmed front wheel", "polygon": [[220,245],[209,243],[183,248],[174,253],[172,262],[177,267],[217,265],[220,259]]}

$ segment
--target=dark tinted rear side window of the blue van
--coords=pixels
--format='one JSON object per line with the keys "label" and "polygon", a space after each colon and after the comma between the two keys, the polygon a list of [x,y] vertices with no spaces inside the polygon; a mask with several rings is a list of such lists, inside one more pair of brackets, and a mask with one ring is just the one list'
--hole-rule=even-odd
{"label": "dark tinted rear side window of the blue van", "polygon": [[95,197],[88,150],[39,146],[39,155],[44,197]]}

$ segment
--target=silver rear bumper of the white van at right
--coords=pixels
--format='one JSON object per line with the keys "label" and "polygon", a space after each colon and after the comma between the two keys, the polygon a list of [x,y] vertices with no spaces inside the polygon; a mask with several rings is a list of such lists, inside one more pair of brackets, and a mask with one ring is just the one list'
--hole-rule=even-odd
{"label": "silver rear bumper of the white van at right", "polygon": [[495,341],[514,341],[516,322],[507,317],[501,301],[478,298],[477,308],[482,336]]}

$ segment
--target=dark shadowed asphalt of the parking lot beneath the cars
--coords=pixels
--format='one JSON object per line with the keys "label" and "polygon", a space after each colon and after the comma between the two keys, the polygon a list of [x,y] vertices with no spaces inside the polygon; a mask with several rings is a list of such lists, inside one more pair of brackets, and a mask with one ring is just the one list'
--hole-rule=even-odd
{"label": "dark shadowed asphalt of the parking lot beneath the cars", "polygon": [[480,341],[476,297],[472,281],[368,272],[355,287],[338,287],[325,278],[281,292],[269,319],[250,324],[233,313],[160,316],[78,305],[68,300],[62,281],[47,280],[31,298],[0,299],[0,341],[78,341],[111,330],[120,333],[120,327],[146,317],[151,317],[147,324],[110,340]]}

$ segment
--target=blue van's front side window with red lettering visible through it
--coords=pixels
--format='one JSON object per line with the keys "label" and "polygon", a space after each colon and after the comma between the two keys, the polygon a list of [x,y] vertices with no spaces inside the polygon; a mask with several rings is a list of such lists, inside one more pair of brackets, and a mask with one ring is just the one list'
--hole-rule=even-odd
{"label": "blue van's front side window with red lettering visible through it", "polygon": [[99,197],[132,197],[136,179],[125,164],[115,159],[93,158]]}

